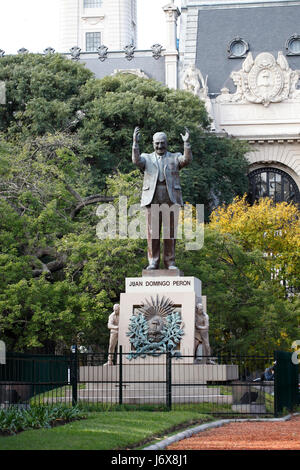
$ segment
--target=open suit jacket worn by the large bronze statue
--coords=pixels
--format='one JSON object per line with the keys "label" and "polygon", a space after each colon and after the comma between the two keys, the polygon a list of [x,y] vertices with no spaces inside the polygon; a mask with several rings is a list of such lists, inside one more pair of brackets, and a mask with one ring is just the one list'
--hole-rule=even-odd
{"label": "open suit jacket worn by the large bronze statue", "polygon": [[[143,192],[141,206],[151,204],[159,175],[159,167],[155,152],[147,154],[133,152],[133,163],[144,172]],[[163,157],[163,171],[169,198],[173,204],[183,206],[181,186],[179,180],[179,170],[188,165],[192,160],[190,146],[187,146],[184,155],[181,153],[166,152]],[[162,201],[164,202],[164,201]]]}

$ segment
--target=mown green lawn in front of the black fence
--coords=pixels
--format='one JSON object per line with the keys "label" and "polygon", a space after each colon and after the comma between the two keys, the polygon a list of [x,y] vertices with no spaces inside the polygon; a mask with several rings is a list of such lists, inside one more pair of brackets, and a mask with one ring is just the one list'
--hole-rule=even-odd
{"label": "mown green lawn in front of the black fence", "polygon": [[[195,411],[90,412],[87,419],[52,429],[0,436],[0,450],[116,450],[141,447],[175,429],[212,421]],[[179,426],[179,428],[177,428]]]}

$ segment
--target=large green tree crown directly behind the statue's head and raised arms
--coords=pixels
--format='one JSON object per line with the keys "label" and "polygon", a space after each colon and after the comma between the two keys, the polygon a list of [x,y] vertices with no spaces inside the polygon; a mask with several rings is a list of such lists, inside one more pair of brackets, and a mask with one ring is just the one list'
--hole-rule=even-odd
{"label": "large green tree crown directly behind the statue's head and raised arms", "polygon": [[[87,118],[79,129],[87,153],[102,174],[132,169],[130,149],[135,126],[141,129],[140,147],[153,151],[158,130],[168,136],[170,151],[182,151],[180,134],[191,133],[193,163],[182,172],[183,195],[204,204],[207,214],[216,202],[230,202],[247,189],[245,144],[208,132],[203,103],[191,93],[171,90],[154,80],[132,75],[89,81],[82,89]],[[98,181],[101,177],[97,174]]]}

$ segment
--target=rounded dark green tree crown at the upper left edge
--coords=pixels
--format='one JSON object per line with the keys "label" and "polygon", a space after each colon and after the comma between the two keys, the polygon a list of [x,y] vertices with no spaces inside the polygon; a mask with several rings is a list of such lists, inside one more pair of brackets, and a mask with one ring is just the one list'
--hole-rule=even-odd
{"label": "rounded dark green tree crown at the upper left edge", "polygon": [[92,76],[59,54],[1,57],[7,104],[0,107],[0,131],[24,138],[70,128],[80,109],[80,88]]}

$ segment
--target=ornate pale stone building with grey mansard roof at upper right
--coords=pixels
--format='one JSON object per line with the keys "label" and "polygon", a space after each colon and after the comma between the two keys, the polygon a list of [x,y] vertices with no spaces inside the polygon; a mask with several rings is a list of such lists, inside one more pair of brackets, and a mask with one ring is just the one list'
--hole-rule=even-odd
{"label": "ornate pale stone building with grey mansard roof at upper right", "polygon": [[253,200],[300,202],[299,17],[299,1],[182,1],[179,86],[198,81],[214,130],[251,145]]}

